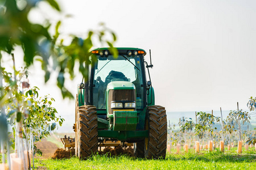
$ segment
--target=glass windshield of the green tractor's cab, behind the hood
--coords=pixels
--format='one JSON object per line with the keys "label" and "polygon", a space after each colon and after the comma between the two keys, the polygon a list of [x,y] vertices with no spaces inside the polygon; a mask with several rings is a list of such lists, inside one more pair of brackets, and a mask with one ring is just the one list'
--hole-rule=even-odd
{"label": "glass windshield of the green tractor's cab, behind the hood", "polygon": [[[137,91],[137,109],[142,108],[142,74],[139,56],[100,57],[94,66],[93,105],[106,109],[105,91],[108,83],[128,81],[135,85]],[[129,60],[129,61],[128,61]]]}

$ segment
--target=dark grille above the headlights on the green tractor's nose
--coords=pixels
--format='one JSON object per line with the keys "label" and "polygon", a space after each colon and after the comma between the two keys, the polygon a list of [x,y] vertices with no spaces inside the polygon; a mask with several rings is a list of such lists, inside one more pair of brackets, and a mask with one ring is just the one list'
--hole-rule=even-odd
{"label": "dark grille above the headlights on the green tractor's nose", "polygon": [[113,114],[110,104],[112,101],[136,101],[135,90],[109,90],[109,113]]}

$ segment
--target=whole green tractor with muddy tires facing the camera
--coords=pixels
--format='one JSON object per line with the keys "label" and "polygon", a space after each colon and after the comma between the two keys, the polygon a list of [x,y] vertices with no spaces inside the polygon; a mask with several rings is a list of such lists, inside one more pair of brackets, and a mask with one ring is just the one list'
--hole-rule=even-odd
{"label": "whole green tractor with muddy tires facing the camera", "polygon": [[[165,158],[167,117],[155,105],[146,52],[139,48],[92,50],[88,79],[77,87],[75,152],[86,159],[102,146],[131,146],[139,158]],[[151,57],[150,57],[151,60]],[[146,80],[146,70],[149,80]]]}

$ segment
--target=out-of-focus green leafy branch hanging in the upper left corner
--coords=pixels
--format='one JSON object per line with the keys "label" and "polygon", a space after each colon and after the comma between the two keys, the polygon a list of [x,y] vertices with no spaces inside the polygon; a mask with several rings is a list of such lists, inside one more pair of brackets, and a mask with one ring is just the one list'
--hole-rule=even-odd
{"label": "out-of-focus green leafy branch hanging in the upper left corner", "polygon": [[[113,42],[117,40],[115,33],[101,24],[100,31],[89,31],[85,39],[72,36],[69,45],[63,45],[64,40],[60,39],[59,27],[61,22],[56,24],[55,35],[49,33],[51,23],[49,19],[44,24],[32,23],[28,15],[31,10],[38,10],[40,3],[48,3],[57,12],[61,9],[55,0],[0,0],[0,53],[11,54],[15,46],[20,46],[24,53],[24,63],[30,66],[37,60],[42,62],[42,70],[45,72],[44,80],[47,82],[51,76],[51,70],[57,70],[57,86],[63,97],[72,98],[72,94],[65,87],[65,74],[74,78],[75,62],[79,61],[79,71],[88,78],[88,65],[94,62],[89,58],[90,50],[93,47],[93,36],[101,44],[108,44],[110,52],[117,55]],[[105,39],[110,35],[110,40]],[[59,40],[60,39],[60,40]],[[53,66],[49,65],[49,59],[53,59]]]}

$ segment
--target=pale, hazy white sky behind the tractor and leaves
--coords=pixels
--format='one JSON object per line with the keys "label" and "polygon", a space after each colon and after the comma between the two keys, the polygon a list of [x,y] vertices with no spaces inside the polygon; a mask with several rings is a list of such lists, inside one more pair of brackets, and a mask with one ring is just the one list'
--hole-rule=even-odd
{"label": "pale, hazy white sky behind the tractor and leaves", "polygon": [[[117,35],[115,46],[142,48],[147,62],[151,49],[155,104],[167,112],[220,107],[229,111],[237,108],[237,102],[246,110],[249,97],[256,96],[256,1],[58,2],[61,14],[42,3],[30,19],[40,23],[47,17],[53,24],[61,19],[60,33],[67,40],[69,34],[85,38],[89,30],[105,23]],[[72,17],[65,18],[67,14]],[[56,73],[44,84],[39,67],[39,63],[31,67],[31,86],[55,98],[59,113],[72,122],[75,102],[62,99]],[[77,73],[73,82],[66,82],[74,96],[81,78]]]}

